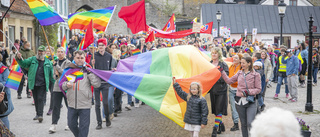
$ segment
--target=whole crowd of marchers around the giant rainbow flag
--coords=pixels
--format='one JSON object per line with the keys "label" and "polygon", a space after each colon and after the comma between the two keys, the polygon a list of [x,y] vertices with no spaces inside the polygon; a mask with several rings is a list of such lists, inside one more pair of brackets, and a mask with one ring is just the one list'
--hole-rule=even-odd
{"label": "whole crowd of marchers around the giant rainbow flag", "polygon": [[[276,43],[268,45],[257,40],[254,42],[244,40],[241,46],[235,46],[236,40],[225,43],[222,38],[212,41],[199,37],[177,40],[157,38],[154,42],[145,42],[143,35],[99,34],[95,36],[94,43],[82,51],[77,50],[81,38],[80,35],[72,36],[68,43],[68,51],[60,45],[56,50],[53,47],[41,45],[34,53],[30,43],[22,38],[21,41],[15,41],[15,47],[12,47],[8,54],[3,44],[0,44],[0,67],[9,66],[13,58],[17,60],[24,74],[17,90],[17,98],[22,98],[22,90],[27,80],[27,98],[33,97],[36,110],[33,120],[38,120],[40,123],[43,121],[43,109],[47,102],[47,91],[49,91],[50,107],[47,115],[52,115],[50,133],[56,132],[60,109],[63,107],[62,99],[68,108],[66,129],[70,129],[76,137],[88,136],[92,105],[95,106],[97,130],[102,128],[103,122],[106,122],[107,127],[111,126],[111,120],[122,113],[122,107],[131,110],[132,107],[144,105],[136,98],[133,101],[129,94],[127,95],[128,104],[123,105],[123,91],[101,80],[88,70],[88,68],[95,68],[116,71],[119,60],[133,56],[132,50],[135,49],[140,49],[141,53],[144,53],[161,48],[193,45],[200,51],[210,53],[210,63],[218,66],[221,71],[220,79],[208,92],[211,113],[215,116],[212,137],[226,130],[222,115],[227,115],[228,103],[231,106],[234,123],[230,131],[240,129],[240,120],[242,136],[248,137],[256,114],[264,111],[266,107],[264,103],[266,92],[274,92],[274,98],[277,99],[281,86],[285,85],[285,97],[288,101],[298,101],[298,87],[305,88],[306,85],[308,54],[313,55],[313,85],[317,85],[320,64],[320,47],[317,41],[310,46],[302,42],[294,49],[289,49],[284,45]],[[308,53],[308,48],[312,48],[313,52]],[[228,65],[224,58],[232,58],[232,65]],[[66,81],[59,85],[59,80],[66,68],[80,68],[84,72],[84,78],[75,83]],[[8,74],[2,72],[1,75]],[[0,79],[0,82],[5,83],[6,79]],[[272,87],[271,82],[277,83],[276,91],[268,91],[268,88]],[[173,78],[173,84],[177,94],[188,102],[184,118],[185,129],[190,131],[192,136],[198,136],[200,128],[207,125],[209,112],[207,102],[201,96],[201,84],[192,83],[189,94],[181,90],[179,84],[175,83],[175,78]],[[66,95],[63,93],[65,91],[67,91]],[[5,93],[10,95],[10,89],[6,88]],[[1,96],[2,94],[0,99]],[[8,100],[11,101],[10,96]],[[7,116],[10,112],[4,114],[0,115],[0,118],[9,128]]]}

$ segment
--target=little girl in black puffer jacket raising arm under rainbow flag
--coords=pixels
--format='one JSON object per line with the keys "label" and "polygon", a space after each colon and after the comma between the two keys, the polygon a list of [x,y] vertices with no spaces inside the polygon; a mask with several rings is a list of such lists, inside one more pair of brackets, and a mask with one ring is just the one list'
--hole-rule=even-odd
{"label": "little girl in black puffer jacket raising arm under rainbow flag", "polygon": [[192,82],[190,92],[182,91],[179,83],[176,83],[176,78],[172,78],[172,83],[175,91],[181,99],[187,101],[187,110],[184,115],[185,130],[190,131],[191,136],[198,137],[200,128],[204,128],[208,121],[208,106],[207,101],[202,97],[202,89],[199,83]]}

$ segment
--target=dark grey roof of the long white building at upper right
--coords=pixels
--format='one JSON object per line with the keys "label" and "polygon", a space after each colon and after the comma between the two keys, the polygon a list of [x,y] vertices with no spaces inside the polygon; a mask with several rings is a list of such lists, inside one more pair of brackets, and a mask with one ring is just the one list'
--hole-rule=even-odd
{"label": "dark grey roof of the long white building at upper right", "polygon": [[[243,5],[243,4],[202,4],[201,20],[203,24],[213,21],[217,27],[216,12],[222,12],[220,26],[230,27],[231,33],[242,34],[244,29],[251,33],[257,28],[258,33],[280,33],[280,16],[278,6],[274,5]],[[309,31],[309,17],[314,17],[314,26],[320,28],[320,7],[288,6],[283,19],[283,33],[304,34]],[[318,30],[318,32],[320,31]]]}

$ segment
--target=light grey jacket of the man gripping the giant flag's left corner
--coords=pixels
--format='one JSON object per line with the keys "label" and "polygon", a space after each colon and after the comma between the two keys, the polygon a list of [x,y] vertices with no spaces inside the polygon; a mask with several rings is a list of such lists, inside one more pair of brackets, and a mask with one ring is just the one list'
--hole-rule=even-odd
{"label": "light grey jacket of the man gripping the giant flag's left corner", "polygon": [[[83,69],[80,70],[83,72]],[[63,82],[62,89],[67,91],[68,106],[74,109],[90,109],[92,106],[91,86],[98,88],[101,85],[100,78],[93,73],[83,73],[83,79],[73,83],[73,87],[67,87],[68,81]]]}

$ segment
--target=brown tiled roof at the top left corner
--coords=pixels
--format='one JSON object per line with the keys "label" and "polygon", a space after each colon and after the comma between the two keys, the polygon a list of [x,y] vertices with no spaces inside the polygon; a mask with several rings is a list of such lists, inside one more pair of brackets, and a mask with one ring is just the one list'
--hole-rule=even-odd
{"label": "brown tiled roof at the top left corner", "polygon": [[[13,0],[10,0],[12,3]],[[16,0],[10,8],[10,11],[21,13],[21,14],[28,14],[33,15],[29,5],[23,0]]]}

